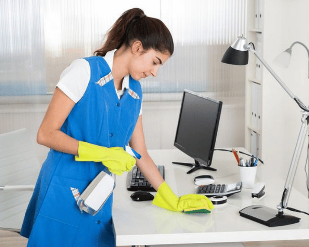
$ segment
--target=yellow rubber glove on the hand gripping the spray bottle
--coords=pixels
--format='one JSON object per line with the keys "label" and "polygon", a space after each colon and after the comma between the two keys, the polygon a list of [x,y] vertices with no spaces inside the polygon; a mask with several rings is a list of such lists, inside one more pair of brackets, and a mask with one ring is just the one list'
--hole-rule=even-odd
{"label": "yellow rubber glove on the hand gripping the spray bottle", "polygon": [[136,160],[121,147],[106,148],[84,141],[78,142],[78,156],[76,161],[102,162],[109,171],[121,176],[124,171],[129,171]]}

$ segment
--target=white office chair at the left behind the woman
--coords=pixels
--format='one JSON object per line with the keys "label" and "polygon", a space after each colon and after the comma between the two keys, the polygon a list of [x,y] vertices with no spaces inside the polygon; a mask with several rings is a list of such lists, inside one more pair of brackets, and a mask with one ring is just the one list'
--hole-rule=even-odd
{"label": "white office chair at the left behind the woman", "polygon": [[0,229],[19,232],[40,163],[27,129],[0,134]]}

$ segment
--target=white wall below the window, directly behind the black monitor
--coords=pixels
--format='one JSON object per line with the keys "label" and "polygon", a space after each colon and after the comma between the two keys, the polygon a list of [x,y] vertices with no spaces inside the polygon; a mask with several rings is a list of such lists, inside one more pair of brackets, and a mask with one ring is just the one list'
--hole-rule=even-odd
{"label": "white wall below the window, directly behind the black monitor", "polygon": [[[223,101],[216,148],[244,145],[243,99]],[[180,111],[180,101],[143,103],[143,128],[148,149],[172,149]]]}

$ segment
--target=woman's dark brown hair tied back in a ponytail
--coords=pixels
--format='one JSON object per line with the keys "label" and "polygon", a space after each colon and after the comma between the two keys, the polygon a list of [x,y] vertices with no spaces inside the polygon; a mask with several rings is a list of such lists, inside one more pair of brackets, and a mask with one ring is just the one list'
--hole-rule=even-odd
{"label": "woman's dark brown hair tied back in a ponytail", "polygon": [[148,17],[139,8],[125,11],[107,32],[107,40],[94,55],[104,57],[108,51],[119,49],[125,44],[129,47],[132,41],[142,42],[146,51],[153,48],[161,53],[174,52],[174,43],[170,31],[164,23],[156,18]]}

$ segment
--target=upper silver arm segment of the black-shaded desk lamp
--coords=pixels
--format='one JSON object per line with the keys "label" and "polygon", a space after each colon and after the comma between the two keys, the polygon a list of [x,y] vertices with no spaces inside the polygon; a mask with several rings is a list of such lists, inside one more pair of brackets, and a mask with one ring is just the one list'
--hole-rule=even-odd
{"label": "upper silver arm segment of the black-shaded desk lamp", "polygon": [[289,94],[289,96],[295,100],[295,102],[298,104],[298,106],[303,109],[304,111],[308,111],[309,109],[308,107],[298,98],[296,97],[291,90],[284,84],[284,82],[280,79],[280,77],[275,73],[275,71],[273,71],[273,69],[268,65],[268,63],[263,59],[263,57],[261,57],[259,55],[259,53],[256,52],[256,50],[254,50],[252,48],[252,45],[248,44],[246,45],[249,49],[250,52],[252,52],[260,61],[261,63],[265,66],[265,68],[269,71],[269,73],[271,73],[271,75],[277,80],[277,82],[279,82],[279,84],[281,85],[281,87],[287,92],[287,94]]}

